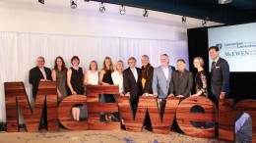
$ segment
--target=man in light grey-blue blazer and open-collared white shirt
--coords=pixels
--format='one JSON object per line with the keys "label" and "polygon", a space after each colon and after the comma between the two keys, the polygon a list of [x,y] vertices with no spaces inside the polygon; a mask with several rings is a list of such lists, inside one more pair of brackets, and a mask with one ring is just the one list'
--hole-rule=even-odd
{"label": "man in light grey-blue blazer and open-collared white shirt", "polygon": [[153,73],[153,96],[158,98],[158,105],[160,109],[160,117],[163,115],[163,109],[165,106],[165,98],[169,92],[169,82],[171,79],[171,72],[175,71],[175,68],[168,65],[169,59],[167,54],[160,55],[160,67],[155,68]]}

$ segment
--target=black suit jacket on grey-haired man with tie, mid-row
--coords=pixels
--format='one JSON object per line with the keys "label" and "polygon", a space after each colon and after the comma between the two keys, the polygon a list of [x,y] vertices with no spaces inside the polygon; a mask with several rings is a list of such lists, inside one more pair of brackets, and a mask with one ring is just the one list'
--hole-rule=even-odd
{"label": "black suit jacket on grey-haired man with tie, mid-row", "polygon": [[131,101],[138,100],[142,94],[142,73],[141,69],[136,68],[138,73],[138,80],[136,82],[133,72],[130,68],[123,71],[123,86],[124,92],[130,92]]}

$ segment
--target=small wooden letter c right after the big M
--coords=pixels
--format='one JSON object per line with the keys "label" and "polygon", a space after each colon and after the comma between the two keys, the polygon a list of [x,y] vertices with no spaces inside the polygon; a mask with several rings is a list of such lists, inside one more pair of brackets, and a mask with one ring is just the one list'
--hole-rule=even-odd
{"label": "small wooden letter c right after the big M", "polygon": [[78,121],[72,117],[72,107],[76,104],[86,104],[87,97],[84,95],[71,95],[64,98],[58,107],[58,118],[63,126],[71,130],[87,130],[88,121]]}

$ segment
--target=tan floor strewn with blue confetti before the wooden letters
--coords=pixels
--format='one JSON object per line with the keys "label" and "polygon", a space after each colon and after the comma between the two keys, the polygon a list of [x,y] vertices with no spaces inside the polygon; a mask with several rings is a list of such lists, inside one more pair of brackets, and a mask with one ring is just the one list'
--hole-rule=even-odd
{"label": "tan floor strewn with blue confetti before the wooden letters", "polygon": [[170,131],[168,135],[154,134],[143,129],[131,131],[72,131],[61,128],[56,132],[0,133],[0,143],[225,143],[216,138],[195,138]]}

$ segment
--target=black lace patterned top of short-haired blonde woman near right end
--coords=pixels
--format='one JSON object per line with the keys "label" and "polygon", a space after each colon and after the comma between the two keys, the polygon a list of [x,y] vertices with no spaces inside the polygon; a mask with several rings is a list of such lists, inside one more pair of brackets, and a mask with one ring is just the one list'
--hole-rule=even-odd
{"label": "black lace patterned top of short-haired blonde woman near right end", "polygon": [[201,91],[201,96],[208,97],[207,92],[207,73],[206,71],[198,71],[195,77],[196,92]]}

